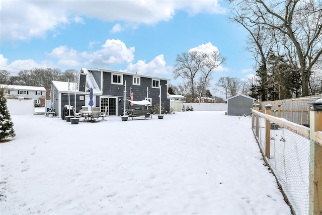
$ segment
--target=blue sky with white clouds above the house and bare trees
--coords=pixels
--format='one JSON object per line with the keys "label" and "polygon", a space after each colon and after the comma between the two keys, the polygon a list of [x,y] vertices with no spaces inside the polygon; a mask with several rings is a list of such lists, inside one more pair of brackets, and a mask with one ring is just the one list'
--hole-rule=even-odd
{"label": "blue sky with white clouds above the house and bare trees", "polygon": [[[218,50],[212,76],[245,79],[254,60],[247,32],[229,23],[222,1],[2,1],[0,69],[123,70],[174,80],[176,56]],[[18,69],[17,69],[18,68]]]}

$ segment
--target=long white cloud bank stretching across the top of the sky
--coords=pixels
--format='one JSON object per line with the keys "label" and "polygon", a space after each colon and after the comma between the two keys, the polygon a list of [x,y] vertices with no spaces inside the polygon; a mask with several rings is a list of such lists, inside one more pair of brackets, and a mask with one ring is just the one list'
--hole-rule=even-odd
{"label": "long white cloud bank stretching across the top of the sky", "polygon": [[[173,19],[176,11],[190,15],[225,13],[214,1],[2,1],[2,40],[44,38],[70,23],[85,24],[84,18],[104,22],[124,22],[111,30],[137,28],[138,24],[155,24]],[[122,28],[120,28],[122,27]],[[59,32],[59,31],[58,31]]]}

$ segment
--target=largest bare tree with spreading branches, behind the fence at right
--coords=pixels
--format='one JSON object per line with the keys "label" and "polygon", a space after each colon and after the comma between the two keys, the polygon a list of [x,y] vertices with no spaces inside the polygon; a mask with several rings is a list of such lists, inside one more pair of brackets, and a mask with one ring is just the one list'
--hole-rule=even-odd
{"label": "largest bare tree with spreading branches, behind the fence at right", "polygon": [[322,53],[319,45],[322,39],[321,1],[230,0],[229,2],[233,3],[233,16],[236,19],[247,19],[248,26],[279,31],[283,35],[279,38],[281,42],[287,39],[287,43],[284,44],[291,44],[290,47],[294,48],[296,53],[296,64],[301,73],[302,96],[309,95],[309,76]]}

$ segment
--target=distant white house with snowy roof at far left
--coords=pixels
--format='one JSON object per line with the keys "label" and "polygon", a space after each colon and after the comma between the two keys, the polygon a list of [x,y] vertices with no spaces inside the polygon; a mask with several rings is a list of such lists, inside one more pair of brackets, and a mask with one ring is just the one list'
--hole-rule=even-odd
{"label": "distant white house with snowy roof at far left", "polygon": [[35,105],[44,106],[46,100],[45,87],[0,85],[5,89],[7,99],[33,99]]}

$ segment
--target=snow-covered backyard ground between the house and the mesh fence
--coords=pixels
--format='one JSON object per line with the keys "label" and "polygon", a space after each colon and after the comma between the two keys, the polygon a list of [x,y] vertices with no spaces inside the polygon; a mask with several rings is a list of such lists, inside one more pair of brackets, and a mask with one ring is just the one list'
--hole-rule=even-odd
{"label": "snow-covered backyard ground between the house and the mesh fence", "polygon": [[251,118],[224,111],[71,125],[13,115],[1,214],[291,214]]}

